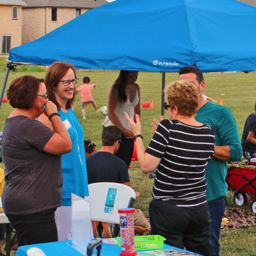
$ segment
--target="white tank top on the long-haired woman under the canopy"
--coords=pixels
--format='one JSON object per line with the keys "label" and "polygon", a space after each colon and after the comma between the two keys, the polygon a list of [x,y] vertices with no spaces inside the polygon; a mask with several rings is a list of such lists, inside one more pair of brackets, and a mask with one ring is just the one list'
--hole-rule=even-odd
{"label": "white tank top on the long-haired woman under the canopy", "polygon": [[[127,99],[127,102],[125,102],[122,107],[120,106],[120,102],[118,102],[118,104],[116,106],[115,114],[126,129],[129,129],[129,124],[124,115],[124,112],[126,112],[130,117],[133,117],[134,116],[134,108],[138,105],[138,103],[139,103],[139,95],[138,95],[138,90],[136,88],[136,95],[132,102],[129,99]],[[111,122],[111,120],[107,116],[105,121],[102,123],[102,125],[104,127],[107,127],[109,125],[114,125],[114,124]]]}

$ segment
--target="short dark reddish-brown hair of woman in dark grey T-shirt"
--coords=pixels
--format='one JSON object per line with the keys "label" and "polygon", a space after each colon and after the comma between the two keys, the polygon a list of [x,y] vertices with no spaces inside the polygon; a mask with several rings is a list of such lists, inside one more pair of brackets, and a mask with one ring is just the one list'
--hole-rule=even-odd
{"label": "short dark reddish-brown hair of woman in dark grey T-shirt", "polygon": [[13,108],[32,108],[40,83],[44,83],[44,79],[35,76],[22,76],[13,80],[6,93],[10,105]]}

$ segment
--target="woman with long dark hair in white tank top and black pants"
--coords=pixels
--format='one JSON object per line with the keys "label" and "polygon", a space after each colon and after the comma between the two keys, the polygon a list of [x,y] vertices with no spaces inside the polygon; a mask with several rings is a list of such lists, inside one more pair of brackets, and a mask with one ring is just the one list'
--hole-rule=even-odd
{"label": "woman with long dark hair in white tank top and black pants", "polygon": [[138,71],[121,70],[116,81],[111,85],[107,97],[108,116],[102,123],[104,127],[115,125],[122,131],[122,145],[116,156],[122,159],[127,169],[131,163],[133,153],[133,136],[124,112],[130,117],[140,116],[140,86],[136,83]]}

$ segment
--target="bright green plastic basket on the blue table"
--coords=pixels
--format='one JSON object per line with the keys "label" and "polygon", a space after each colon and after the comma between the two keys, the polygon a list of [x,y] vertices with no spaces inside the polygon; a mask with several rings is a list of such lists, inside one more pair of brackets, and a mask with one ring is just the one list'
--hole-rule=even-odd
{"label": "bright green plastic basket on the blue table", "polygon": [[[118,247],[121,247],[121,237],[116,237],[118,241]],[[134,236],[135,250],[156,250],[163,249],[164,241],[166,239],[163,236]]]}

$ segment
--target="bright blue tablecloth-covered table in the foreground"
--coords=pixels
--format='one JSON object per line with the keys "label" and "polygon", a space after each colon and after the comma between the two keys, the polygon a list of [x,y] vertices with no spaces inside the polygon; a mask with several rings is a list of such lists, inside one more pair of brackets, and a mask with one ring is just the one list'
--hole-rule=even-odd
{"label": "bright blue tablecloth-covered table in the foreground", "polygon": [[[47,256],[82,256],[82,253],[79,253],[76,249],[74,249],[70,243],[72,241],[61,241],[61,242],[54,242],[54,243],[45,243],[45,244],[33,244],[33,245],[25,245],[20,246],[17,250],[16,256],[27,256],[27,251],[31,247],[40,248],[45,255]],[[170,245],[164,244],[164,249],[173,248]],[[180,250],[183,251],[183,250]],[[143,252],[143,251],[139,251]],[[186,251],[188,252],[188,251]],[[102,250],[100,251],[100,255],[102,256],[119,256],[120,248],[117,244],[105,244],[102,243]],[[93,255],[96,255],[97,251],[93,251]],[[198,254],[195,254],[195,256]]]}

